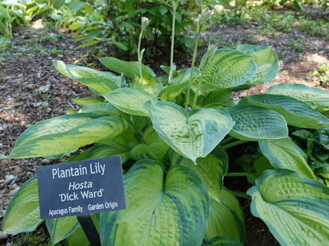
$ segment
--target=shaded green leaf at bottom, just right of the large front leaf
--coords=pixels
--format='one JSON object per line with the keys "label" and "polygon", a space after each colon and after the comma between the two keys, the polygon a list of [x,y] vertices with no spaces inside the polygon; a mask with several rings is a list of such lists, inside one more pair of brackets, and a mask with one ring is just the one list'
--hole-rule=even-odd
{"label": "shaded green leaf at bottom, just right of the large front leaf", "polygon": [[214,236],[228,236],[236,241],[245,239],[245,219],[243,210],[228,189],[224,187],[220,197],[210,197],[210,215],[206,231],[206,241]]}

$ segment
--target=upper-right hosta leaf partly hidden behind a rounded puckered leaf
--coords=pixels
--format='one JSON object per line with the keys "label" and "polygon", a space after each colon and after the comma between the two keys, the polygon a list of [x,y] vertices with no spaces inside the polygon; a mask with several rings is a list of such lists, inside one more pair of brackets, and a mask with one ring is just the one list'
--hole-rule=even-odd
{"label": "upper-right hosta leaf partly hidden behind a rounded puckered leaf", "polygon": [[256,74],[247,83],[267,83],[276,77],[279,61],[271,46],[241,44],[236,46],[236,50],[251,55],[256,64]]}

